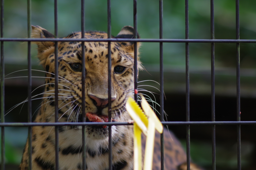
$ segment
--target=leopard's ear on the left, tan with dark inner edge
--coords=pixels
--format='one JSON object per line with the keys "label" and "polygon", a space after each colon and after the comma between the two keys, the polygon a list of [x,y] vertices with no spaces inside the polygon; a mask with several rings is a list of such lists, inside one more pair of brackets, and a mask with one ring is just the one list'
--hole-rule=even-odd
{"label": "leopard's ear on the left, tan with dark inner edge", "polygon": [[[54,38],[54,35],[49,33],[46,29],[31,25],[32,27],[32,38]],[[54,42],[50,41],[37,41],[35,42],[38,46],[38,58],[41,61],[41,64],[44,65],[46,57],[48,56],[46,53],[47,51],[51,51],[51,49],[54,49]]]}

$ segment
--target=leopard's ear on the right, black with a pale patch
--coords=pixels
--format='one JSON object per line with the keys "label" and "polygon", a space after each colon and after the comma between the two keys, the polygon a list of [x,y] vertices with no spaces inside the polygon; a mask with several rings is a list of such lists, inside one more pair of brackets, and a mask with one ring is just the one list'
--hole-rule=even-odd
{"label": "leopard's ear on the right, black with a pale patch", "polygon": [[[138,38],[140,38],[140,35],[137,33]],[[134,37],[134,28],[131,26],[125,26],[121,29],[121,31],[117,34],[115,38],[133,38]],[[134,53],[134,43],[133,42],[122,42],[122,45],[124,45],[123,49],[127,53],[133,54]],[[140,43],[137,43],[137,51],[140,48]],[[137,52],[138,54],[138,52]],[[139,55],[139,54],[138,54]],[[133,56],[133,55],[131,55]]]}

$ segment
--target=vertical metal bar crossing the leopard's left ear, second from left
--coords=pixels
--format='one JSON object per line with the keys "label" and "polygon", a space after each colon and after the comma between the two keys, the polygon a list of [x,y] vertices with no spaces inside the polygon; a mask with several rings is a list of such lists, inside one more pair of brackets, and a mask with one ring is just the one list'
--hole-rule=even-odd
{"label": "vertical metal bar crossing the leopard's left ear, second from left", "polygon": [[[28,38],[31,38],[31,0],[27,1],[27,27]],[[31,103],[31,41],[28,41],[28,122],[32,122],[32,103]],[[28,169],[32,169],[32,127],[28,127]]]}

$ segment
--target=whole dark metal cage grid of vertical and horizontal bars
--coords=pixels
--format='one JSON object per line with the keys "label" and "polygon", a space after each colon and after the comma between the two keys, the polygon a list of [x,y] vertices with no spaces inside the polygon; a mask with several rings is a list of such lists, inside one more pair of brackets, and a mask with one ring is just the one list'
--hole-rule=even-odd
{"label": "whole dark metal cage grid of vertical and horizontal bars", "polygon": [[[214,36],[214,0],[210,0],[210,9],[211,9],[211,39],[189,39],[189,23],[188,23],[188,0],[185,0],[185,39],[163,39],[163,0],[159,1],[159,39],[137,39],[137,1],[133,0],[133,21],[134,21],[134,39],[115,39],[111,38],[111,4],[110,0],[108,0],[107,5],[107,13],[108,13],[108,39],[85,39],[84,38],[84,30],[85,30],[85,15],[84,15],[84,0],[81,0],[81,31],[82,31],[82,38],[81,39],[61,39],[58,38],[58,27],[57,27],[57,21],[58,21],[58,15],[57,15],[57,0],[54,1],[54,19],[55,19],[55,38],[54,39],[39,39],[39,38],[31,38],[31,0],[27,0],[27,25],[28,25],[28,38],[3,38],[3,28],[4,28],[4,0],[1,0],[1,130],[2,130],[2,143],[1,143],[1,149],[2,149],[2,170],[5,169],[5,135],[4,135],[4,129],[5,127],[22,127],[26,126],[28,127],[28,141],[29,141],[29,169],[31,169],[31,127],[32,126],[55,126],[55,134],[56,134],[56,165],[55,169],[57,170],[59,167],[58,162],[58,148],[59,148],[59,141],[58,141],[58,126],[72,126],[72,125],[79,125],[82,126],[82,160],[83,160],[83,166],[82,169],[86,169],[86,156],[85,156],[85,125],[108,125],[109,126],[109,136],[111,136],[111,125],[129,125],[126,122],[111,122],[111,105],[109,105],[109,122],[108,123],[88,123],[85,122],[85,96],[82,97],[82,120],[83,122],[77,122],[77,123],[60,123],[58,122],[58,106],[55,106],[55,123],[33,123],[31,121],[31,42],[33,41],[52,41],[55,42],[55,61],[58,61],[58,44],[57,42],[108,42],[108,63],[109,63],[109,74],[108,74],[108,86],[109,89],[111,89],[111,48],[110,43],[111,42],[134,42],[134,89],[137,89],[137,42],[158,42],[160,46],[160,114],[161,118],[160,120],[164,125],[186,125],[186,146],[187,146],[187,169],[190,169],[190,125],[211,125],[212,126],[212,169],[216,169],[216,144],[215,144],[215,126],[216,125],[237,125],[237,152],[238,152],[238,169],[241,169],[241,133],[240,133],[240,125],[243,124],[256,124],[256,121],[240,121],[240,43],[256,43],[256,40],[240,40],[239,39],[239,0],[236,0],[236,40],[216,40]],[[4,103],[5,103],[5,94],[4,94],[4,42],[6,41],[17,41],[17,42],[28,42],[28,122],[26,123],[5,123],[4,121]],[[184,43],[185,49],[186,49],[186,121],[185,122],[163,122],[164,120],[164,93],[163,93],[163,43]],[[191,122],[189,120],[189,44],[190,43],[210,43],[211,44],[211,120],[210,122]],[[237,56],[237,121],[215,121],[215,43],[236,43],[236,56]],[[82,43],[82,93],[84,94],[85,90],[85,57],[84,57],[84,44]],[[55,62],[55,77],[58,76],[58,62]],[[55,79],[55,96],[58,96],[58,79]],[[134,94],[135,100],[137,100],[137,95]],[[55,103],[58,103],[58,98],[55,98]],[[111,91],[109,91],[109,103],[111,103]],[[109,138],[109,170],[112,169],[112,150],[111,150],[111,137]],[[161,169],[164,169],[164,147],[163,147],[163,134],[161,135]]]}

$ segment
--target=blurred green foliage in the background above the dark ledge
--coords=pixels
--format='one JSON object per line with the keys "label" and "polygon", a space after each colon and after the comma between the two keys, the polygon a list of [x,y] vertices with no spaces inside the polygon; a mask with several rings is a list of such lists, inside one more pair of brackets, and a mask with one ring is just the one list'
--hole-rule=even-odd
{"label": "blurred green foliage in the background above the dark ledge", "polygon": [[[80,1],[58,2],[59,37],[64,37],[81,27]],[[185,38],[185,1],[163,2],[163,37]],[[240,2],[240,39],[256,39],[256,2]],[[215,0],[215,39],[236,38],[235,1]],[[54,1],[32,0],[32,22],[54,33]],[[86,30],[107,31],[106,1],[85,2]],[[159,38],[158,1],[137,2],[138,32],[141,38]],[[125,25],[133,25],[133,1],[111,1],[112,35],[117,35]],[[27,37],[26,1],[5,1],[4,37]],[[189,1],[189,38],[210,39],[210,1]],[[234,43],[215,46],[216,67],[236,66]],[[5,56],[26,60],[26,43],[5,42]],[[143,43],[141,61],[159,63],[158,43]],[[241,44],[241,68],[256,68],[254,44]],[[36,55],[36,50],[33,51]],[[36,60],[36,59],[35,59]],[[7,59],[7,61],[9,61]],[[185,44],[164,43],[164,63],[173,67],[185,67]],[[210,44],[190,43],[190,67],[210,67]]]}

